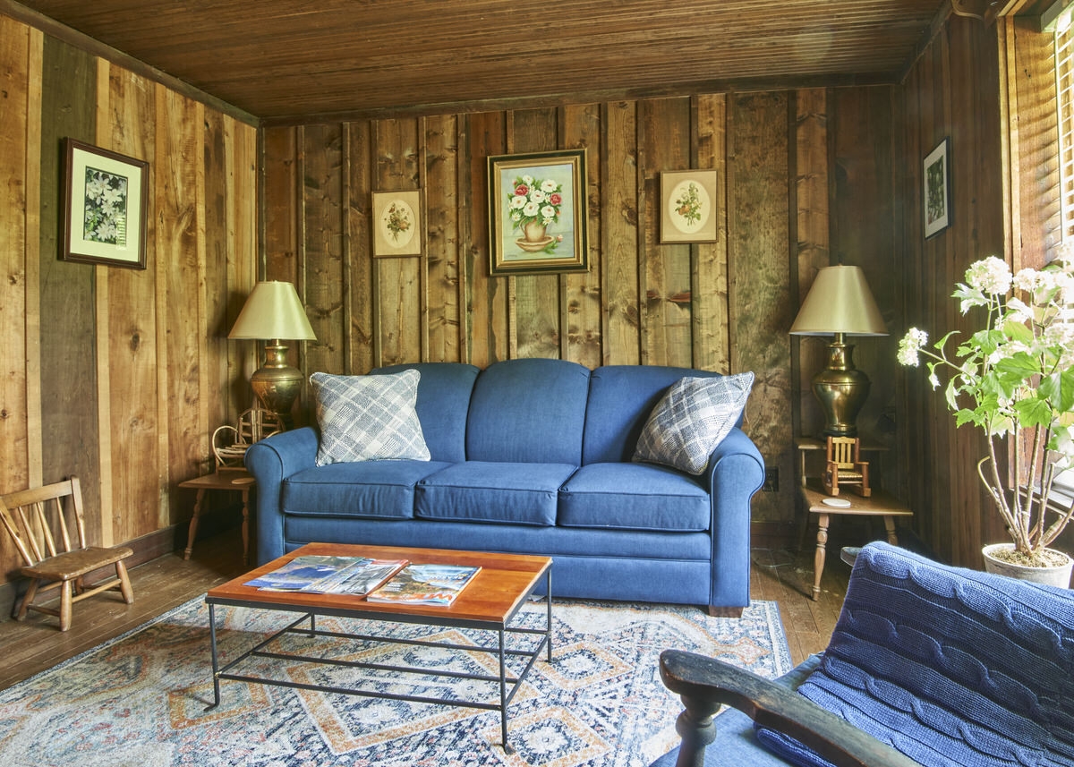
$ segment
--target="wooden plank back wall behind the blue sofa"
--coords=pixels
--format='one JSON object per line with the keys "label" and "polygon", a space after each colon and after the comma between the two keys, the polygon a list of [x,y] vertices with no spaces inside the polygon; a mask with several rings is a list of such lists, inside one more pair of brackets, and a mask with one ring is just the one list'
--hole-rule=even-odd
{"label": "wooden plank back wall behind the blue sofa", "polygon": [[[815,407],[796,422],[793,400],[812,397],[823,362],[814,345],[804,368],[793,365],[787,329],[837,255],[877,288],[890,281],[894,91],[699,93],[265,129],[266,276],[300,286],[318,336],[293,357],[306,373],[518,357],[754,371],[748,431],[781,477],[779,492],[755,498],[754,518],[758,532],[785,537],[798,521],[795,430],[821,424]],[[578,147],[589,273],[490,276],[485,158]],[[659,175],[686,168],[717,171],[719,238],[662,245]],[[402,189],[423,196],[422,254],[373,258],[371,192]],[[892,344],[862,356],[880,392],[862,418],[869,430],[890,407],[894,356]]]}

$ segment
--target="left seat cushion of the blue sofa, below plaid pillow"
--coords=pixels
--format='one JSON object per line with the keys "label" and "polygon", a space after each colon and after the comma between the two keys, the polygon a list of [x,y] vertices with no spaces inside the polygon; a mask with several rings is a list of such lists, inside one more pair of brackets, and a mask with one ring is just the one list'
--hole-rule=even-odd
{"label": "left seat cushion of the blue sofa, below plaid pillow", "polygon": [[412,519],[415,486],[449,465],[393,460],[307,468],[284,480],[280,506],[293,515]]}

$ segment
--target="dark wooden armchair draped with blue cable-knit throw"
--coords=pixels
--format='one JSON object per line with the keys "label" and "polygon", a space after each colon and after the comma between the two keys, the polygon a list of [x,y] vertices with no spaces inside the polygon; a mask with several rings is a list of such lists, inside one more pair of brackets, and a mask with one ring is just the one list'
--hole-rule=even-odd
{"label": "dark wooden armchair draped with blue cable-knit throw", "polygon": [[773,682],[667,650],[661,674],[686,710],[654,767],[1074,765],[1074,594],[886,544],[822,656]]}

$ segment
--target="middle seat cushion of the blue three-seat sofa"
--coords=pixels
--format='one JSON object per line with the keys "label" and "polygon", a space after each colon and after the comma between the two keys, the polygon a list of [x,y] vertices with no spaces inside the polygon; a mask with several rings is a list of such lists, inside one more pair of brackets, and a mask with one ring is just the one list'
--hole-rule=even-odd
{"label": "middle seat cushion of the blue three-seat sofa", "polygon": [[554,525],[560,487],[576,468],[564,463],[456,463],[419,482],[415,513],[421,519]]}

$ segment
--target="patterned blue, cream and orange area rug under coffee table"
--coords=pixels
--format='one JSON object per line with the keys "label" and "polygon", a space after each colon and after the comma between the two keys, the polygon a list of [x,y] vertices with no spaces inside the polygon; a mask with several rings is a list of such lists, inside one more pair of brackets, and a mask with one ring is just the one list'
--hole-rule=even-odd
{"label": "patterned blue, cream and orange area rug under coffee table", "polygon": [[[294,618],[244,608],[216,612],[223,661]],[[542,627],[545,616],[545,604],[535,603],[523,608],[520,620]],[[364,623],[322,618],[318,628],[362,633]],[[490,632],[408,625],[393,631],[459,645],[496,641]],[[418,654],[425,667],[498,670],[489,653],[334,638],[287,640],[319,641],[311,651],[358,661],[391,663]],[[498,711],[228,680],[221,682],[220,706],[206,711],[213,700],[208,610],[199,598],[0,692],[0,754],[10,767],[641,767],[678,742],[673,725],[682,707],[661,683],[657,667],[665,648],[708,653],[767,677],[790,668],[772,602],[755,602],[735,620],[709,618],[691,607],[557,600],[552,663],[542,653],[508,708],[508,736],[516,749],[508,754]],[[250,663],[282,663],[296,682],[324,681],[329,674],[296,661]],[[358,668],[331,674],[333,683],[342,674],[345,684],[360,681],[436,697],[449,684],[454,694],[498,701],[498,685],[488,682],[425,677],[404,682],[396,674]]]}

